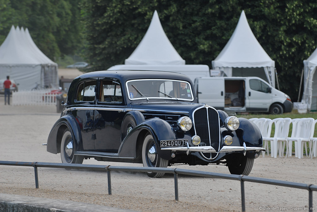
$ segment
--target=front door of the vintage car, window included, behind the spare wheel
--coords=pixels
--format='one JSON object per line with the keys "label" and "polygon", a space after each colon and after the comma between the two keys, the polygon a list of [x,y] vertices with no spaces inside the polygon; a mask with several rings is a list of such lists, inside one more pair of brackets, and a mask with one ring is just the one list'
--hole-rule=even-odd
{"label": "front door of the vintage car, window included, behind the spare wheel", "polygon": [[122,86],[118,81],[101,79],[98,91],[94,113],[95,150],[118,152],[121,123],[126,114]]}

